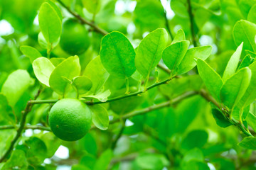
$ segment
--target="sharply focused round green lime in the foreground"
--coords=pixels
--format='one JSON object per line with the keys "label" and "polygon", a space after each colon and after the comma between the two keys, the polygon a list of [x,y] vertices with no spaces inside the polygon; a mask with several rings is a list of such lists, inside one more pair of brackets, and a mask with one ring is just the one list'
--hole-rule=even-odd
{"label": "sharply focused round green lime in the foreground", "polygon": [[50,128],[61,140],[80,140],[90,130],[91,123],[90,109],[76,98],[63,98],[50,109]]}

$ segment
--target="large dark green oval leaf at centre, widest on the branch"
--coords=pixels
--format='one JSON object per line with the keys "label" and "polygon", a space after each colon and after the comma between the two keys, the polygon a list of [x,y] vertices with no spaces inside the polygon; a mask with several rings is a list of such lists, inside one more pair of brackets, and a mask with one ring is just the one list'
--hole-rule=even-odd
{"label": "large dark green oval leaf at centre, widest on the branch", "polygon": [[100,60],[107,72],[119,78],[130,77],[135,72],[135,52],[124,34],[113,31],[102,38]]}

